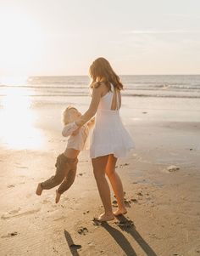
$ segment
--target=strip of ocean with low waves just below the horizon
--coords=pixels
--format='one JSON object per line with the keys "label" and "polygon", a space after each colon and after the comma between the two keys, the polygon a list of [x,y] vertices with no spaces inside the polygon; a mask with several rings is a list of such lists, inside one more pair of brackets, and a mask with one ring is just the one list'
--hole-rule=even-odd
{"label": "strip of ocean with low waves just below the horizon", "polygon": [[[126,96],[200,98],[200,75],[134,75],[120,79],[125,86],[122,94]],[[90,94],[89,83],[86,76],[28,77],[23,82],[0,78],[0,97],[12,88],[33,98],[86,96]]]}

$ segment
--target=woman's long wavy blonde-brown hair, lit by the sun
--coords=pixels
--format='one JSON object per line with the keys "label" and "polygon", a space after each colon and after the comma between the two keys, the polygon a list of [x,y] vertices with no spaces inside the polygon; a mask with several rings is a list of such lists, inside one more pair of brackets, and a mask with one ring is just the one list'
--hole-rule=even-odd
{"label": "woman's long wavy blonde-brown hair, lit by the sun", "polygon": [[114,85],[114,88],[123,89],[123,84],[120,82],[119,76],[114,72],[108,60],[103,57],[93,61],[89,72],[92,77],[91,88],[98,88],[101,82],[104,82],[109,90],[111,90],[110,83]]}

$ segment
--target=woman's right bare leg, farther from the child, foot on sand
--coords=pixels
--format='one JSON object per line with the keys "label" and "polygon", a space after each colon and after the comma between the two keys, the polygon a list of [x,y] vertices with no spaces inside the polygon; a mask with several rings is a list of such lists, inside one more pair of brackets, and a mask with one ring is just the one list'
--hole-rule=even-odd
{"label": "woman's right bare leg, farther from the child, foot on sand", "polygon": [[118,202],[118,210],[114,212],[114,215],[120,215],[120,214],[127,213],[127,211],[125,209],[124,191],[123,191],[121,179],[119,178],[119,175],[115,172],[116,162],[117,162],[117,158],[114,157],[114,155],[109,155],[107,166],[106,166],[106,174],[112,185],[114,195],[116,196],[116,199]]}

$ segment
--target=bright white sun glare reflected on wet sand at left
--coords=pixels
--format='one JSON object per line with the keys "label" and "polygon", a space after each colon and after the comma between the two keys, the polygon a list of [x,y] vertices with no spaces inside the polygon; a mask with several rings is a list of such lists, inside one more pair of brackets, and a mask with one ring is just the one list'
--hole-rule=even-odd
{"label": "bright white sun glare reflected on wet sand at left", "polygon": [[27,88],[4,88],[0,105],[0,141],[14,150],[42,148],[42,131],[35,128],[36,114],[31,109]]}

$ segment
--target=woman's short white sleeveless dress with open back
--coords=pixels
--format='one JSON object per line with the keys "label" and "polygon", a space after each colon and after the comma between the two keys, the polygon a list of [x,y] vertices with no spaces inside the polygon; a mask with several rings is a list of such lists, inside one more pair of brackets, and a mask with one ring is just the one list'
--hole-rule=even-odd
{"label": "woman's short white sleeveless dress with open back", "polygon": [[117,109],[111,110],[113,96],[114,86],[111,85],[111,91],[99,102],[90,147],[92,158],[109,154],[124,157],[134,148],[133,140],[119,117],[119,94],[116,94]]}

